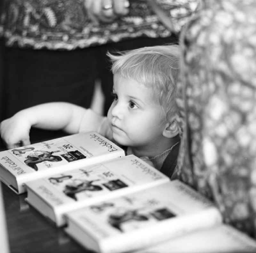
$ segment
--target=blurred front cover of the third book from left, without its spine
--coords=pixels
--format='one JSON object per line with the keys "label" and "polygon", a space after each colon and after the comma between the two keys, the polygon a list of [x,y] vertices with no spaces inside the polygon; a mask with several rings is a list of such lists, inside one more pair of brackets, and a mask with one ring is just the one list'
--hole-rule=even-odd
{"label": "blurred front cover of the third book from left, without its spine", "polygon": [[[67,217],[76,220],[81,227],[90,229],[92,233],[94,231],[97,234],[100,230],[111,236],[202,212],[207,217],[214,217],[212,223],[215,220],[216,223],[221,221],[220,213],[212,202],[179,180],[174,180],[137,193],[98,202],[97,205],[89,205],[68,213]],[[92,222],[88,220],[93,221],[92,226]]]}

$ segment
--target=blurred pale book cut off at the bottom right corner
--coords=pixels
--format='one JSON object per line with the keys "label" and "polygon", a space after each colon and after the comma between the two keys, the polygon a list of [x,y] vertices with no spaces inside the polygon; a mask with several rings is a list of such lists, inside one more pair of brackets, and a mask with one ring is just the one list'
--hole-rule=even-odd
{"label": "blurred pale book cut off at the bottom right corner", "polygon": [[136,253],[248,253],[256,252],[256,241],[229,225],[202,229],[156,244]]}

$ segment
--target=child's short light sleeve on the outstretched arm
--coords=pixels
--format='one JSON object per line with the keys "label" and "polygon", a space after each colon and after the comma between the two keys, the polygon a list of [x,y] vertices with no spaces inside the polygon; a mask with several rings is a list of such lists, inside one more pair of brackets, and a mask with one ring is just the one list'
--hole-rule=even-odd
{"label": "child's short light sleeve on the outstretched arm", "polygon": [[112,140],[113,137],[107,117],[99,115],[91,109],[87,109],[85,111],[78,131],[96,131],[99,134],[103,135],[104,137],[108,138],[109,140]]}

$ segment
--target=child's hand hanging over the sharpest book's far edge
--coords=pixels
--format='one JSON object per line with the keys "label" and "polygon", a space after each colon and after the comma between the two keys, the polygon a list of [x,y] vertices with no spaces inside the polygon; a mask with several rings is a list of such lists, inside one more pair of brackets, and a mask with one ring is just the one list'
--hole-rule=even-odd
{"label": "child's hand hanging over the sharpest book's far edge", "polygon": [[6,119],[0,124],[1,137],[8,149],[30,144],[29,131],[31,124],[19,113]]}

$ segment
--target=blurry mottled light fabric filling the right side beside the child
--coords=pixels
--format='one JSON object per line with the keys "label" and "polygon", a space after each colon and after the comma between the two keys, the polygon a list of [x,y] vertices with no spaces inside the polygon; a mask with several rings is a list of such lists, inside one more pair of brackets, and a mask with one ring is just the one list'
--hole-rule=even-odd
{"label": "blurry mottled light fabric filling the right side beside the child", "polygon": [[254,236],[255,13],[253,0],[202,1],[181,32],[177,99],[181,180],[213,197],[226,222]]}

